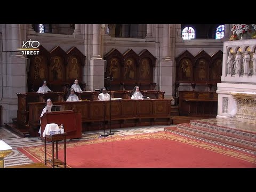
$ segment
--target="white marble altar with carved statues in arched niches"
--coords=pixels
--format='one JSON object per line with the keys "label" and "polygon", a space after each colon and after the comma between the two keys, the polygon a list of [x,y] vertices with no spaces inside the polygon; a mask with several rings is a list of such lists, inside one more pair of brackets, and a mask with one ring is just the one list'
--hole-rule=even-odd
{"label": "white marble altar with carved statues in arched niches", "polygon": [[[221,83],[217,84],[218,115],[221,117],[237,117],[246,121],[256,120],[256,73],[253,70],[253,55],[255,52],[256,39],[243,41],[227,41],[223,44],[223,62]],[[249,54],[248,54],[249,53]],[[249,71],[244,70],[246,54],[249,55]],[[238,63],[239,70],[235,71],[233,62],[231,70],[228,70],[229,57],[235,58],[241,55],[243,61]]]}

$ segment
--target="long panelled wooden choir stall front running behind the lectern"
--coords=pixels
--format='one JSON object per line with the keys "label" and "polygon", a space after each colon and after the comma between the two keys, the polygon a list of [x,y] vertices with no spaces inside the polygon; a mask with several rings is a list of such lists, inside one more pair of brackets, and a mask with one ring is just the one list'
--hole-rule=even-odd
{"label": "long panelled wooden choir stall front running behind the lectern", "polygon": [[[109,129],[110,109],[111,109],[111,128],[119,129],[131,126],[148,126],[148,125],[169,125],[171,124],[172,106],[171,99],[150,99],[150,100],[113,100],[113,101],[74,101],[74,102],[53,102],[54,105],[65,105],[65,111],[55,111],[44,114],[41,118],[42,133],[47,123],[63,124],[65,132],[68,133],[67,139],[79,138],[82,131],[102,130],[103,126]],[[40,127],[40,114],[45,103],[29,103],[29,134],[31,137],[38,136]],[[110,108],[111,106],[111,108]],[[73,123],[71,117],[64,116],[73,109],[75,114],[81,114],[79,120],[76,119],[76,132],[71,133]],[[70,112],[71,113],[71,112]],[[68,115],[68,114],[66,114]],[[74,115],[74,112],[73,112]],[[46,118],[47,117],[47,121]],[[74,118],[74,117],[72,117]],[[76,117],[77,118],[77,117]],[[57,119],[59,119],[57,121]],[[46,122],[44,122],[46,121]],[[79,126],[77,125],[79,121]],[[69,126],[70,125],[70,126]],[[71,129],[71,130],[69,130]],[[73,131],[73,130],[72,130]]]}

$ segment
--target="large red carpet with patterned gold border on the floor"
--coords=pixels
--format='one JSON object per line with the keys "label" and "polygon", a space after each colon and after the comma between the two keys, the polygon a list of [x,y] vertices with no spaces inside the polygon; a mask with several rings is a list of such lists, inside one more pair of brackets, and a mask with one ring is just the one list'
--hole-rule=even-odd
{"label": "large red carpet with patterned gold border on the floor", "polygon": [[[50,157],[51,147],[47,147]],[[19,149],[44,162],[44,146]],[[63,159],[63,144],[59,158]],[[256,167],[256,157],[167,132],[67,143],[69,167]]]}

